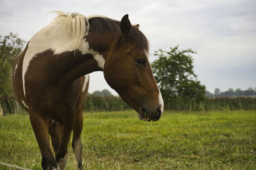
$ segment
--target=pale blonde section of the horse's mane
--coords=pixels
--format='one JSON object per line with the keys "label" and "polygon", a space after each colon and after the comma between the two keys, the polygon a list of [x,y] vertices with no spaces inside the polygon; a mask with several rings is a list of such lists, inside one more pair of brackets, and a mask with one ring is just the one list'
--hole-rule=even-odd
{"label": "pale blonde section of the horse's mane", "polygon": [[63,11],[52,11],[57,13],[57,17],[52,21],[52,24],[63,24],[64,38],[72,39],[72,46],[79,48],[83,42],[84,36],[88,33],[88,20],[84,15],[79,13],[64,13]]}

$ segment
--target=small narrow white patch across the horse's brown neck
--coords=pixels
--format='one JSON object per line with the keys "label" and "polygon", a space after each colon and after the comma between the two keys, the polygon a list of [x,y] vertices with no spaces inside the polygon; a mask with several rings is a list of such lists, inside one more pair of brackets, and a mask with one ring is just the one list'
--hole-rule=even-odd
{"label": "small narrow white patch across the horse's brown neck", "polygon": [[81,44],[79,50],[82,54],[90,53],[93,55],[93,58],[97,61],[97,64],[100,68],[104,68],[105,59],[99,52],[90,48],[89,43],[86,41],[86,38],[83,39],[83,43]]}

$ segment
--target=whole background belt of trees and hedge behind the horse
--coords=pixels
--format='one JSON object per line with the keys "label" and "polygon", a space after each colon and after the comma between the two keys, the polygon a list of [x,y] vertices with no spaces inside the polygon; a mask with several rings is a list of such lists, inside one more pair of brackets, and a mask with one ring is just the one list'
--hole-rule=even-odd
{"label": "whole background belt of trees and hedge behind the horse", "polygon": [[[0,114],[22,112],[12,92],[11,76],[15,57],[24,48],[25,41],[12,32],[0,36]],[[193,71],[191,49],[179,50],[179,45],[169,51],[159,49],[154,52],[157,59],[152,62],[152,71],[161,90],[164,108],[167,110],[255,110],[256,88],[248,90],[228,89],[221,92],[215,89],[214,94],[207,92],[205,86],[197,79]],[[226,97],[224,97],[226,96]],[[230,97],[239,97],[232,99]],[[108,90],[88,94],[84,111],[118,111],[131,108],[119,96],[113,96]]]}

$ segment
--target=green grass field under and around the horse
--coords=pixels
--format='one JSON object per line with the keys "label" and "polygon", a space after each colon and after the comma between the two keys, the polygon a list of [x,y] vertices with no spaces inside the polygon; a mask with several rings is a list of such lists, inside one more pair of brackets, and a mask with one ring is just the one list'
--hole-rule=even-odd
{"label": "green grass field under and around the horse", "polygon": [[[154,124],[135,111],[86,113],[82,141],[84,169],[256,169],[256,111],[164,111]],[[0,117],[0,162],[40,169],[40,157],[28,115]]]}

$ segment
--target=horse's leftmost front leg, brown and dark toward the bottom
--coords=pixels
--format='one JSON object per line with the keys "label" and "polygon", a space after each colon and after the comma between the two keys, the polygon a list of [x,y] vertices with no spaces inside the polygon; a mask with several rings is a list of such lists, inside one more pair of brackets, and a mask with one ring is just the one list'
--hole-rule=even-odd
{"label": "horse's leftmost front leg, brown and dark toward the bottom", "polygon": [[33,108],[29,108],[29,119],[35,132],[36,140],[42,155],[42,169],[57,169],[57,163],[51,152],[48,124],[49,118],[42,117]]}

